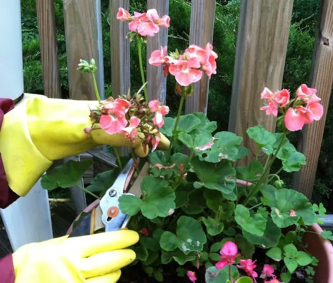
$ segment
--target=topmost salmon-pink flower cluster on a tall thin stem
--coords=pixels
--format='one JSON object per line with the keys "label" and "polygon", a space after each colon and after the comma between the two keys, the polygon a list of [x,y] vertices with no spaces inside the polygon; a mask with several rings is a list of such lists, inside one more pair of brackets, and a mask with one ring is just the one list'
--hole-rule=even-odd
{"label": "topmost salmon-pink flower cluster on a tall thin stem", "polygon": [[169,28],[170,26],[170,17],[168,15],[160,17],[155,9],[150,9],[147,13],[134,12],[132,16],[127,10],[119,8],[117,19],[122,22],[130,21],[130,31],[141,36],[154,36],[159,32],[159,27]]}

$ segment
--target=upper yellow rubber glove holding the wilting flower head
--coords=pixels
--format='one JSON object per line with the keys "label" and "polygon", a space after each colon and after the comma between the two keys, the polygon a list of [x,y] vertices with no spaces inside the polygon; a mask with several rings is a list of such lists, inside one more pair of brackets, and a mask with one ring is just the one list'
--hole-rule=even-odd
{"label": "upper yellow rubber glove holding the wilting flower head", "polygon": [[[9,187],[25,196],[46,172],[54,160],[85,152],[98,145],[134,148],[145,156],[139,138],[134,143],[124,134],[110,135],[103,129],[91,131],[90,109],[97,101],[47,98],[43,95],[27,98],[5,114],[0,131],[0,152]],[[168,149],[170,141],[161,134],[158,145]]]}

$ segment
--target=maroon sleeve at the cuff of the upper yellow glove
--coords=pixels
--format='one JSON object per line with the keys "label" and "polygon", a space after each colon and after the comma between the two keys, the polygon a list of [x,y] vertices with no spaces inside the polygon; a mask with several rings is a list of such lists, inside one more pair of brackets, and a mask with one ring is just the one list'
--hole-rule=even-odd
{"label": "maroon sleeve at the cuff of the upper yellow glove", "polygon": [[[4,116],[14,108],[12,99],[0,98],[0,129],[3,124]],[[12,204],[19,196],[8,186],[4,164],[0,152],[0,208],[6,208]],[[2,277],[0,277],[2,278]]]}

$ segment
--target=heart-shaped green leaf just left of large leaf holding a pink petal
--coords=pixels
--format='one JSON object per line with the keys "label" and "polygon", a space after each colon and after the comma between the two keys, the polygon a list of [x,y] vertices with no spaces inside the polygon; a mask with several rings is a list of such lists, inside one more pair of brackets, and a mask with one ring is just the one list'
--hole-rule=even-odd
{"label": "heart-shaped green leaf just left of large leaf holding a pink petal", "polygon": [[235,220],[246,232],[257,236],[263,236],[267,219],[262,217],[261,214],[256,213],[251,216],[246,207],[243,205],[237,205],[235,210]]}

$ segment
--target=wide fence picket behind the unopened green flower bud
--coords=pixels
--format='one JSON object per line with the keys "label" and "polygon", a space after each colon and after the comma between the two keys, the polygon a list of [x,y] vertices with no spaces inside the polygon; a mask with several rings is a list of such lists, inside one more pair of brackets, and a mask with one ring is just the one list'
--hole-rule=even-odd
{"label": "wide fence picket behind the unopened green flower bud", "polygon": [[100,38],[98,1],[64,0],[65,36],[70,98],[95,100],[91,75],[77,71],[80,59],[88,62],[94,58],[97,66],[96,81],[98,91],[104,88],[102,68],[103,57]]}

